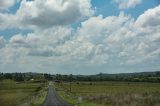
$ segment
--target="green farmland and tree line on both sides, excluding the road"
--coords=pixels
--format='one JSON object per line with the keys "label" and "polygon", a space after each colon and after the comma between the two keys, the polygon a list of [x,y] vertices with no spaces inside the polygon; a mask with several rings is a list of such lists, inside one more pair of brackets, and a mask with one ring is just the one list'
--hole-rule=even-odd
{"label": "green farmland and tree line on both sides, excluding the road", "polygon": [[62,99],[76,106],[160,105],[160,72],[148,72],[97,75],[1,73],[0,106],[41,106],[47,95],[48,81],[55,81],[54,89]]}

